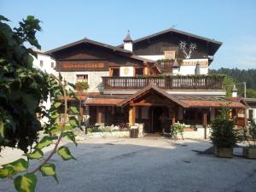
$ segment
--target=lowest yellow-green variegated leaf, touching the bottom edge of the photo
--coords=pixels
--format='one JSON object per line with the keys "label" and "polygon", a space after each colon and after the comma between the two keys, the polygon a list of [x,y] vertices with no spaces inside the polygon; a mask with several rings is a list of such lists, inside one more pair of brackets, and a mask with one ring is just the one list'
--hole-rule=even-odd
{"label": "lowest yellow-green variegated leaf, touching the bottom edge of the photo", "polygon": [[15,177],[15,189],[19,192],[34,192],[38,179],[33,173]]}

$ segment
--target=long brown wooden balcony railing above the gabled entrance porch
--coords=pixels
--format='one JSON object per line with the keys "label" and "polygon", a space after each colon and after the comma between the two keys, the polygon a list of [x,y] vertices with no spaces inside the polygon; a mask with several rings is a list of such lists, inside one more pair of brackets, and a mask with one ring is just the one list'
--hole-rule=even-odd
{"label": "long brown wooden balcony railing above the gabled entrance porch", "polygon": [[221,90],[221,76],[102,77],[104,90],[140,90],[151,82],[163,90]]}

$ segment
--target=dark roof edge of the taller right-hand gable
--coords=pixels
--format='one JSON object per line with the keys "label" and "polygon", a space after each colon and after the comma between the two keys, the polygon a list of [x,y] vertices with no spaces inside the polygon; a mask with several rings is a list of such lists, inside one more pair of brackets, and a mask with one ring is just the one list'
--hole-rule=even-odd
{"label": "dark roof edge of the taller right-hand gable", "polygon": [[[138,39],[133,41],[133,44],[137,44],[137,43],[143,42],[144,40],[148,40],[150,38],[154,38],[154,37],[160,36],[160,35],[165,34],[167,32],[177,33],[177,34],[180,34],[180,35],[183,35],[183,36],[187,36],[189,38],[199,39],[199,40],[208,42],[209,44],[212,44],[212,47],[213,47],[212,55],[214,55],[217,52],[218,48],[222,45],[222,42],[220,42],[220,41],[216,41],[216,40],[211,39],[211,38],[204,38],[204,37],[201,37],[201,36],[189,33],[189,32],[183,32],[183,31],[180,31],[180,30],[177,30],[177,29],[174,29],[174,28],[169,28],[169,29],[166,29],[164,31],[156,32],[154,34],[145,36],[143,38],[138,38]],[[117,47],[123,48],[124,44],[119,44]]]}

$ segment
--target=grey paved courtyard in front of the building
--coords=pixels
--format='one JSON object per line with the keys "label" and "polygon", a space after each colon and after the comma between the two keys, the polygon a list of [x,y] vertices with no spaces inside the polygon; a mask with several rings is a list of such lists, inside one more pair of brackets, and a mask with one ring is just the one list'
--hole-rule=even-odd
{"label": "grey paved courtyard in front of the building", "polygon": [[[173,141],[161,137],[105,138],[67,143],[78,160],[63,161],[57,155],[59,184],[38,173],[39,192],[255,192],[256,160],[236,156],[219,159],[198,154],[211,147],[208,141]],[[236,154],[241,150],[236,149]],[[4,149],[0,164],[18,158],[20,152]],[[9,180],[0,191],[15,191]]]}

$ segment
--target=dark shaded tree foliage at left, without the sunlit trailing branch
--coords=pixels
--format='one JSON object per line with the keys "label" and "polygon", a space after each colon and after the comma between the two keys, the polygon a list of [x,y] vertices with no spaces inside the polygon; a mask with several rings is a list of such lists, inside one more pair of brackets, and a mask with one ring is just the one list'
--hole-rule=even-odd
{"label": "dark shaded tree foliage at left, without the sunlit trailing branch", "polygon": [[42,130],[35,114],[43,113],[38,106],[49,93],[47,75],[32,68],[35,53],[24,45],[40,49],[35,38],[40,21],[28,16],[14,31],[4,21],[9,20],[0,16],[0,150],[17,145],[27,152]]}

